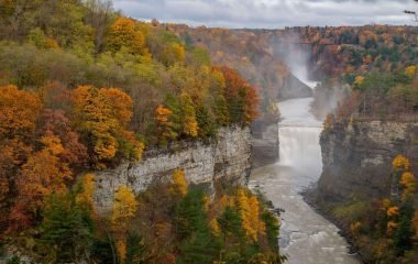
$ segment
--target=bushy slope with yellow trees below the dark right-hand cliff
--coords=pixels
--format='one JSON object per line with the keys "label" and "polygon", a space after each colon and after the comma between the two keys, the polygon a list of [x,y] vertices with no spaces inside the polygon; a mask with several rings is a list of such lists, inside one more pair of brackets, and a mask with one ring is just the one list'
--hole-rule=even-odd
{"label": "bushy slope with yellow trees below the dark right-hand cliff", "polygon": [[387,197],[352,197],[328,204],[327,210],[348,232],[366,263],[415,263],[418,255],[417,180],[414,164],[403,155],[393,161]]}

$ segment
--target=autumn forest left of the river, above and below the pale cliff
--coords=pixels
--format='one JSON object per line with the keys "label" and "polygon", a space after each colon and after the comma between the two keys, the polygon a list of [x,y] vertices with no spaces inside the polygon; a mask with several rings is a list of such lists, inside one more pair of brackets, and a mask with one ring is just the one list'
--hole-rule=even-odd
{"label": "autumn forest left of the river, above and below the pale cliff", "polygon": [[258,116],[256,89],[111,1],[0,2],[0,251],[42,263],[280,263],[277,217],[246,188],[170,183],[94,205],[95,172]]}

